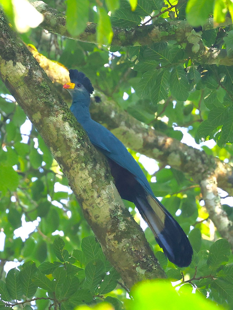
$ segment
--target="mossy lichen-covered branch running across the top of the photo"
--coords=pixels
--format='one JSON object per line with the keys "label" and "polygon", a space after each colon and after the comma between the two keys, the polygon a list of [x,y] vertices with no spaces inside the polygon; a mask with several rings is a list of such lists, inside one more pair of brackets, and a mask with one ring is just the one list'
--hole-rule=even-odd
{"label": "mossy lichen-covered branch running across the top of the photo", "polygon": [[[76,37],[71,36],[66,29],[66,16],[62,12],[49,7],[43,1],[29,0],[29,2],[43,14],[44,20],[40,26],[44,29],[67,38],[83,42],[98,43],[96,38],[97,24],[89,22],[83,33]],[[224,23],[218,24],[217,26],[214,25],[213,19],[209,18],[208,23],[203,25],[203,29],[208,30],[231,24],[232,20],[229,17],[226,18]],[[153,42],[176,40],[179,44],[185,46],[185,50],[190,58],[202,64],[233,65],[233,57],[227,57],[225,50],[205,47],[199,33],[196,33],[186,20],[173,20],[171,22],[159,20],[152,25],[132,27],[130,29],[112,27],[112,29],[112,45],[148,45]]]}

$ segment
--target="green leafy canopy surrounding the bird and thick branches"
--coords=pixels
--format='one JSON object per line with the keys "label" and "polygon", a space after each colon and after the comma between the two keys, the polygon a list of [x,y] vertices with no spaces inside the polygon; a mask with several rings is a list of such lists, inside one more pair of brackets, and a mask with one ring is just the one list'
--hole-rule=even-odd
{"label": "green leafy canopy surrounding the bird and thick branches", "polygon": [[[11,2],[0,2],[13,25]],[[232,162],[232,66],[206,64],[192,58],[199,48],[200,37],[206,48],[219,48],[224,55],[233,55],[232,25],[203,31],[198,28],[209,16],[213,16],[216,24],[224,22],[226,14],[232,16],[231,0],[179,0],[178,3],[167,0],[138,0],[137,3],[133,0],[50,0],[46,3],[66,11],[71,35],[82,33],[88,21],[98,23],[99,45],[46,33],[40,28],[21,34],[25,43],[33,44],[41,54],[67,68],[83,71],[96,89],[145,125],[178,140],[183,135],[181,131],[174,131],[174,126],[185,127],[198,144],[201,139],[215,139],[217,144],[212,149],[205,146],[203,149]],[[165,12],[160,14],[162,11]],[[143,20],[148,15],[152,23],[187,19],[197,27],[188,39],[192,51],[189,53],[188,44],[180,45],[175,39],[150,45],[110,46],[113,27],[130,31],[140,23],[145,24]],[[153,18],[155,15],[158,17]],[[163,35],[173,33],[174,29],[169,28]],[[82,309],[89,305],[105,309],[109,306],[104,306],[103,300],[115,310],[137,309],[139,304],[140,309],[148,309],[159,290],[158,294],[168,302],[167,307],[173,309],[174,302],[169,294],[173,296],[176,292],[169,283],[138,286],[132,291],[134,301],[126,301],[126,292],[118,284],[120,275],[104,257],[73,193],[67,190],[68,182],[60,167],[34,126],[30,133],[22,134],[26,116],[6,95],[9,92],[2,82],[0,93],[4,94],[0,97],[0,226],[6,235],[4,250],[0,252],[0,309],[10,308],[10,303],[15,305],[14,309],[24,307],[26,310],[35,306],[39,310],[48,307],[72,310],[77,305],[83,305]],[[129,96],[127,100],[122,99],[124,93]],[[130,152],[139,159],[137,153]],[[142,168],[150,181],[151,175]],[[213,230],[205,208],[199,203],[199,185],[182,171],[168,167],[160,166],[155,175],[157,182],[151,184],[155,195],[163,197],[162,203],[188,234],[194,248],[191,265],[181,271],[167,261],[151,231],[148,228],[145,231],[167,276],[184,284],[177,299],[179,308],[184,308],[185,304],[185,309],[194,309],[197,300],[199,308],[210,307],[200,297],[202,294],[217,303],[211,304],[213,309],[221,308],[220,305],[233,309],[230,246],[226,239],[219,239],[219,233]],[[58,187],[58,184],[65,187]],[[135,215],[132,204],[126,202],[126,205]],[[233,220],[232,208],[227,205],[224,208]],[[177,210],[181,210],[178,216]],[[37,221],[34,222],[37,227],[26,240],[15,235],[15,230],[22,226],[22,217],[26,222]],[[139,221],[137,215],[135,219]],[[191,231],[190,226],[194,227]],[[56,236],[59,234],[62,237]],[[20,271],[13,268],[6,275],[3,267],[9,261],[19,262]],[[191,294],[193,287],[195,295]],[[35,306],[34,297],[37,299]],[[21,299],[31,301],[31,306],[16,301]],[[153,307],[161,309],[159,305]]]}

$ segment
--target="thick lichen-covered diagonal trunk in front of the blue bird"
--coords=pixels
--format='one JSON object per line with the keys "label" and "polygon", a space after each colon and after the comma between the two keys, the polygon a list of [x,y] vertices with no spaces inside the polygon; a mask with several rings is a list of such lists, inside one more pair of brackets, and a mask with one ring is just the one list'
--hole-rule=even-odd
{"label": "thick lichen-covered diagonal trunk in front of the blue bird", "polygon": [[0,76],[62,167],[107,259],[126,286],[163,278],[144,233],[125,209],[105,157],[0,11]]}

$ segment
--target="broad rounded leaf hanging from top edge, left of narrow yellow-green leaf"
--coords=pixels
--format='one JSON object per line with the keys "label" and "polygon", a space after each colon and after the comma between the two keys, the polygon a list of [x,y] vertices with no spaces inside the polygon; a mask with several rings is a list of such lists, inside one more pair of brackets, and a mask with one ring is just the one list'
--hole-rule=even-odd
{"label": "broad rounded leaf hanging from top edge, left of narrow yellow-green leaf", "polygon": [[73,36],[78,36],[87,27],[89,17],[88,0],[67,0],[66,27]]}

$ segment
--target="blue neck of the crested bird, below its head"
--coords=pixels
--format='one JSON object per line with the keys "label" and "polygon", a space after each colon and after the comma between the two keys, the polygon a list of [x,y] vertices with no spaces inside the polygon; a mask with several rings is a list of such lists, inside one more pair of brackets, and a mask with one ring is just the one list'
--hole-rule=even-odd
{"label": "blue neck of the crested bird, below its head", "polygon": [[86,98],[86,96],[79,96],[78,99],[73,99],[71,104],[71,112],[81,125],[91,119],[89,104],[90,98]]}

